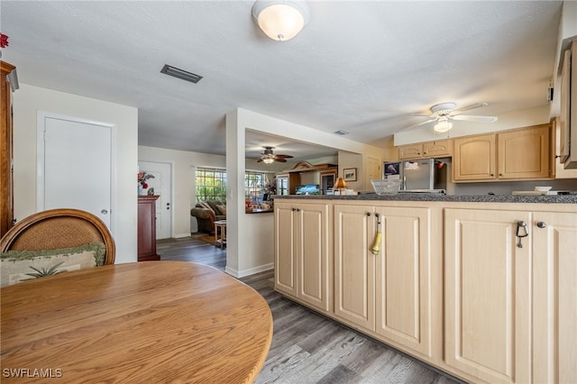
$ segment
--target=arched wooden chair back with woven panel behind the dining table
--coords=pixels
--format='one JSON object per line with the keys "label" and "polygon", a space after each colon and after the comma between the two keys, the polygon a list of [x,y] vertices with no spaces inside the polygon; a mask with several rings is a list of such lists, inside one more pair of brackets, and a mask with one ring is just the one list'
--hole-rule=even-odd
{"label": "arched wooden chair back with woven panel behind the dining table", "polygon": [[102,220],[79,209],[50,209],[14,225],[0,240],[0,252],[56,250],[89,242],[103,242],[104,263],[114,264],[114,239]]}

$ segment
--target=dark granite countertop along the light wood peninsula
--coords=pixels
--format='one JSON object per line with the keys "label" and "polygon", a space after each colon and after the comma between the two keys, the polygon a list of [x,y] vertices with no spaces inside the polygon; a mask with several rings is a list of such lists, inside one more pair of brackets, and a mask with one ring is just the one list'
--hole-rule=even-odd
{"label": "dark granite countertop along the light wood peninsula", "polygon": [[540,203],[577,204],[577,195],[443,195],[443,194],[364,194],[364,195],[285,195],[275,199],[298,198],[310,200],[381,200],[381,201],[446,201],[455,203]]}

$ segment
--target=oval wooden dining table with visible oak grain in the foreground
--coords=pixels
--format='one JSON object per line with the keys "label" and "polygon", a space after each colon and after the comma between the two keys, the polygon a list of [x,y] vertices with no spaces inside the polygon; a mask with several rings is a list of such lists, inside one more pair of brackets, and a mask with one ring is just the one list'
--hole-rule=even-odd
{"label": "oval wooden dining table with visible oak grain in the foreground", "polygon": [[184,261],[65,272],[0,299],[3,383],[252,382],[272,338],[258,292]]}

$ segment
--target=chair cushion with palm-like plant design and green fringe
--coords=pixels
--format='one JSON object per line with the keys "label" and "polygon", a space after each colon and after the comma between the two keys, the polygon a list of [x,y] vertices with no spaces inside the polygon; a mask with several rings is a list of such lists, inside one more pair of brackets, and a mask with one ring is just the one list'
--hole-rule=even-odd
{"label": "chair cushion with palm-like plant design and green fringe", "polygon": [[0,287],[69,270],[104,265],[105,244],[90,242],[74,248],[0,253]]}

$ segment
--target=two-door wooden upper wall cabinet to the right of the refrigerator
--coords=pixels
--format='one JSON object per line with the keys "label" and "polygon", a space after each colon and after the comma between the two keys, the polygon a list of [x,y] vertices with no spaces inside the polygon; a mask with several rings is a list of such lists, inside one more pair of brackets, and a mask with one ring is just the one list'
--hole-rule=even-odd
{"label": "two-door wooden upper wall cabinet to the right of the refrigerator", "polygon": [[453,181],[553,177],[550,124],[454,139]]}

